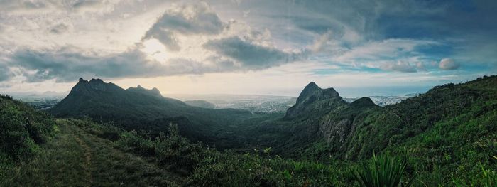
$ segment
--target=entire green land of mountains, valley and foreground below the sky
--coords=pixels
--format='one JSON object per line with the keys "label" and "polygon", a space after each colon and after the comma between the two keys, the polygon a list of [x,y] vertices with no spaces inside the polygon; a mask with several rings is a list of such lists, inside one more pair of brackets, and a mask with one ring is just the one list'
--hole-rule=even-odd
{"label": "entire green land of mountains, valley and foreground below the sky", "polygon": [[[286,114],[201,109],[97,83],[80,81],[50,111],[59,119],[0,97],[0,186],[497,186],[496,76],[386,107],[311,83]],[[122,102],[104,102],[107,89]],[[183,110],[147,118],[173,111],[161,106]],[[195,138],[202,122],[211,129]]]}

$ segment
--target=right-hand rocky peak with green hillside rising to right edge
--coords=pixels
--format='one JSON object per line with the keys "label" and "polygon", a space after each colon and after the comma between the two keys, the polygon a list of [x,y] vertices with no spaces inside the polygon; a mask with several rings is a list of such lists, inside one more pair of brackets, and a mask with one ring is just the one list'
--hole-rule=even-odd
{"label": "right-hand rocky peak with green hillside rising to right edge", "polygon": [[266,135],[258,143],[273,145],[275,154],[316,159],[366,159],[373,152],[402,147],[427,158],[430,152],[459,159],[470,159],[454,155],[464,151],[487,159],[497,154],[495,146],[487,145],[496,143],[497,76],[436,86],[386,107],[368,97],[344,103],[334,90],[327,90],[313,82],[307,85],[284,119],[258,129],[278,132],[279,140]]}

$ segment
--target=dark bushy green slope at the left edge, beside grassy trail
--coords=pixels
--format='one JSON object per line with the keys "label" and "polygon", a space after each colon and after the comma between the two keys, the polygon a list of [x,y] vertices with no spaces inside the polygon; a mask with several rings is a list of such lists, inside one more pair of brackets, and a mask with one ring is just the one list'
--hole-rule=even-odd
{"label": "dark bushy green slope at the left edge, beside grassy trail", "polygon": [[45,112],[0,95],[0,181],[16,164],[39,154],[40,144],[55,129],[55,120]]}

